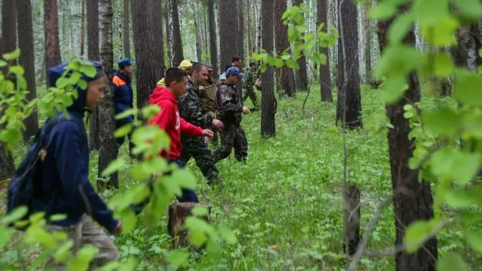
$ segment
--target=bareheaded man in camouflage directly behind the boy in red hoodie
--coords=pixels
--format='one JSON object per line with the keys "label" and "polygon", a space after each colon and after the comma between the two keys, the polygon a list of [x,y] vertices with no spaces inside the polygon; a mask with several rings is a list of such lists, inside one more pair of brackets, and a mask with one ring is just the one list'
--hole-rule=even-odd
{"label": "bareheaded man in camouflage directly behind the boy in red hoodie", "polygon": [[[202,63],[196,63],[191,67],[191,77],[187,83],[184,95],[178,99],[179,114],[185,121],[200,126],[203,129],[223,127],[223,122],[214,119],[211,115],[205,115],[201,110],[201,99],[198,86],[207,79],[207,67]],[[220,188],[223,182],[219,177],[219,171],[214,164],[211,151],[203,138],[190,138],[181,135],[182,151],[180,160],[186,165],[194,157],[209,185],[218,185]]]}

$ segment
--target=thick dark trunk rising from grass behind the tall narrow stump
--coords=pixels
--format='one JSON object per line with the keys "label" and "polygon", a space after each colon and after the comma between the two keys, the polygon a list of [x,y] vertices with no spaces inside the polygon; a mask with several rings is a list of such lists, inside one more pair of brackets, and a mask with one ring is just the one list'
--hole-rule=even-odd
{"label": "thick dark trunk rising from grass behind the tall narrow stump", "polygon": [[[338,0],[340,19],[340,46],[338,47],[338,102],[336,121],[345,121],[346,127],[362,127],[362,103],[360,100],[360,73],[358,59],[358,34],[356,4]],[[342,37],[343,36],[343,37]],[[345,52],[344,52],[345,51]]]}

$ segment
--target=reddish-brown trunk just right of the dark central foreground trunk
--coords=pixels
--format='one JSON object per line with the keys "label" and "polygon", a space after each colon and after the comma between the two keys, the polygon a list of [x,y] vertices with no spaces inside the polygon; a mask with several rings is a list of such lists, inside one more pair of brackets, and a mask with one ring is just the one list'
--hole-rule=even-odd
{"label": "reddish-brown trunk just right of the dark central foreground trunk", "polygon": [[[288,27],[283,25],[281,16],[286,10],[286,0],[274,1],[274,28],[276,40],[276,52],[278,57],[282,55],[283,51],[288,49],[291,54],[290,43],[288,42]],[[295,96],[295,75],[293,69],[287,66],[277,69],[278,75],[278,93],[280,96]]]}

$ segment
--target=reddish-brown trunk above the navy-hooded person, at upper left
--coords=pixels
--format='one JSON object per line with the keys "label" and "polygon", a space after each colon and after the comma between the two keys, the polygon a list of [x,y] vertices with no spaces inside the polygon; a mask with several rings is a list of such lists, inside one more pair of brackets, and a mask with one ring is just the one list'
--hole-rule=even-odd
{"label": "reddish-brown trunk above the navy-hooded person, at upper left", "polygon": [[51,67],[62,62],[60,58],[59,18],[57,0],[45,0],[43,5],[45,15],[45,72],[48,73]]}

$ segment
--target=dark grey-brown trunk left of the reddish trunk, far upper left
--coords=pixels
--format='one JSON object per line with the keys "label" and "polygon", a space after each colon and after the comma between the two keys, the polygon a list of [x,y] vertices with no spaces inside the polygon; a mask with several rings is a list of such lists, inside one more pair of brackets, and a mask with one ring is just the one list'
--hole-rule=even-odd
{"label": "dark grey-brown trunk left of the reddish trunk, far upper left", "polygon": [[[17,18],[21,18],[17,22],[18,29],[18,47],[20,48],[20,65],[25,70],[24,77],[27,80],[27,89],[29,94],[27,99],[32,101],[37,97],[37,88],[35,83],[35,55],[34,55],[34,33],[32,26],[32,3],[30,0],[17,0]],[[34,110],[24,121],[27,130],[25,131],[25,139],[33,137],[38,131],[38,115]]]}

